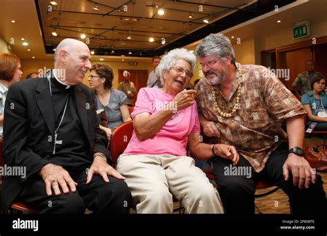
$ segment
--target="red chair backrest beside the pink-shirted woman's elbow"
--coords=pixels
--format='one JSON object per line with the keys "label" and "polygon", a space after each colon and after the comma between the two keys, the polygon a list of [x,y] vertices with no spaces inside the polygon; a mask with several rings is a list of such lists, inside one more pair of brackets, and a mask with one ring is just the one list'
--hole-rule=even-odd
{"label": "red chair backrest beside the pink-shirted woman's elbow", "polygon": [[133,132],[132,120],[117,127],[111,134],[110,151],[113,165],[116,164],[119,155],[126,149]]}

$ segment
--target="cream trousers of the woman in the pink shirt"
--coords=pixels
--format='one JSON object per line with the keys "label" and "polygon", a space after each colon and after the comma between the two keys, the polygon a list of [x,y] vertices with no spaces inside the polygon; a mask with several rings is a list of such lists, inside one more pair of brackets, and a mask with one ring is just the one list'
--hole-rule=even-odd
{"label": "cream trousers of the woman in the pink shirt", "polygon": [[188,213],[224,213],[217,190],[188,156],[119,156],[137,213],[172,213],[172,195]]}

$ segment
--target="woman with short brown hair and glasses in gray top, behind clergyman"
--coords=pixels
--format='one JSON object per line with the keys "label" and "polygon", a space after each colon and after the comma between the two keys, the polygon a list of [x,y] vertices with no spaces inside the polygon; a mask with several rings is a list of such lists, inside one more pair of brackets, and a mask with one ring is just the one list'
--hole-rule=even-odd
{"label": "woman with short brown hair and glasses in gray top, behind clergyman", "polygon": [[88,76],[90,87],[95,89],[98,111],[106,112],[107,127],[100,125],[100,129],[106,131],[110,140],[111,133],[123,122],[131,120],[127,107],[127,96],[116,89],[112,89],[114,74],[108,65],[96,64],[90,69]]}

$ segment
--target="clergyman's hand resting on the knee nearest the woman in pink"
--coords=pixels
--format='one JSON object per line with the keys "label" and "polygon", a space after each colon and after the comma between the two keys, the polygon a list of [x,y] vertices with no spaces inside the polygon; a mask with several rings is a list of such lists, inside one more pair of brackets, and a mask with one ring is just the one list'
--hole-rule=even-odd
{"label": "clergyman's hand resting on the knee nearest the woman in pink", "polygon": [[105,158],[96,156],[93,160],[92,166],[88,171],[88,178],[86,179],[86,184],[89,184],[93,178],[94,174],[99,174],[102,176],[105,182],[109,182],[108,175],[111,175],[119,180],[126,180],[118,171],[112,168]]}

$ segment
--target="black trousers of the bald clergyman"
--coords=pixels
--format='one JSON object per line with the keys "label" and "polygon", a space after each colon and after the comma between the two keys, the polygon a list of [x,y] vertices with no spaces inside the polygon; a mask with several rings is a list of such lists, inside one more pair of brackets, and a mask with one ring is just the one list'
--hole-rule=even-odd
{"label": "black trousers of the bald clergyman", "polygon": [[[94,213],[129,213],[132,197],[126,182],[108,175],[110,182],[104,182],[100,175],[93,175],[90,184],[86,185],[86,171],[70,175],[77,182],[77,191],[61,195],[46,195],[46,186],[41,177],[35,176],[26,180],[19,194],[23,202],[45,214],[83,214],[88,208]],[[68,187],[69,188],[69,187]]]}

